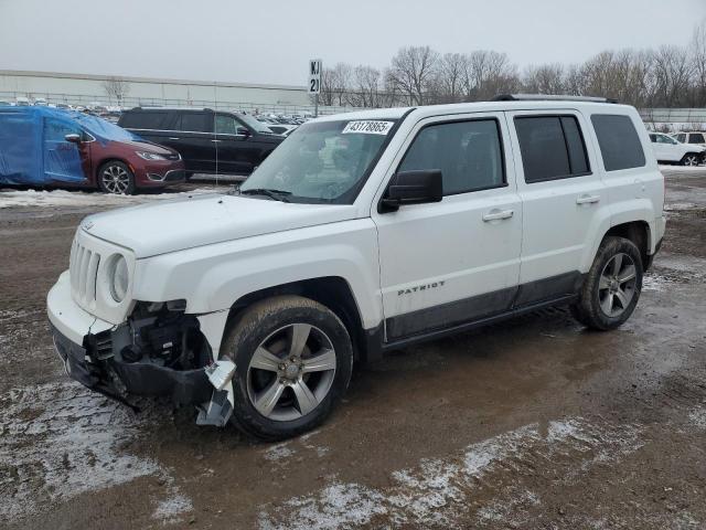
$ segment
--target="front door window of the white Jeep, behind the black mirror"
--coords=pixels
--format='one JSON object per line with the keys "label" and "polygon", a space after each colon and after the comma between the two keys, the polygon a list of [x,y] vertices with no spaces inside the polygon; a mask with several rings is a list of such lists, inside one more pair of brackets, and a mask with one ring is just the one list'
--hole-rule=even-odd
{"label": "front door window of the white Jeep, behind the black mirror", "polygon": [[445,195],[505,186],[498,121],[478,119],[425,127],[397,171],[424,169],[441,170]]}

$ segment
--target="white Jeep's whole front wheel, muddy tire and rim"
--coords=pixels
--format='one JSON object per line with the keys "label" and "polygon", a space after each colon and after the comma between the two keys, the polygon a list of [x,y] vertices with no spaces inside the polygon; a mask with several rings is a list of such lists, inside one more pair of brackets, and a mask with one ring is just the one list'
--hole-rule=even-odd
{"label": "white Jeep's whole front wheel, muddy tire and rim", "polygon": [[300,296],[248,308],[228,332],[223,354],[237,367],[231,421],[266,441],[320,425],[345,393],[353,365],[341,319]]}

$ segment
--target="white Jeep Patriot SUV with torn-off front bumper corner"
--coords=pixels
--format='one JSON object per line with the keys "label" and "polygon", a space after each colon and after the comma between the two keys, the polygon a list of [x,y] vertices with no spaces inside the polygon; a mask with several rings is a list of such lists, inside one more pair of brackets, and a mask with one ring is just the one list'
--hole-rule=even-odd
{"label": "white Jeep Patriot SUV with torn-off front bumper corner", "polygon": [[386,350],[555,304],[620,326],[663,200],[638,113],[605,99],[328,116],[239,190],[87,218],[49,318],[83,384],[284,438]]}

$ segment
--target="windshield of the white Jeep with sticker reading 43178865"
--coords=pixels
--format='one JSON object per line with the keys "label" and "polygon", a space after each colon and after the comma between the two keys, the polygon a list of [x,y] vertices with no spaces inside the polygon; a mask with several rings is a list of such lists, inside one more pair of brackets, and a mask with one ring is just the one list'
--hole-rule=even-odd
{"label": "windshield of the white Jeep with sticker reading 43178865", "polygon": [[265,159],[240,192],[274,190],[291,202],[351,204],[395,121],[304,124]]}

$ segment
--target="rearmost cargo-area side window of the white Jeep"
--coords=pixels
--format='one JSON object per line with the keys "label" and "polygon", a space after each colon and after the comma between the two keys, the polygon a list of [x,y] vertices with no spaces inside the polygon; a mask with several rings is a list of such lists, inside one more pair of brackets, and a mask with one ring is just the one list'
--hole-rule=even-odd
{"label": "rearmost cargo-area side window of the white Jeep", "polygon": [[606,171],[642,168],[645,165],[642,142],[629,116],[595,114],[591,121]]}

